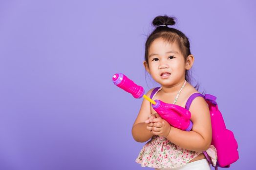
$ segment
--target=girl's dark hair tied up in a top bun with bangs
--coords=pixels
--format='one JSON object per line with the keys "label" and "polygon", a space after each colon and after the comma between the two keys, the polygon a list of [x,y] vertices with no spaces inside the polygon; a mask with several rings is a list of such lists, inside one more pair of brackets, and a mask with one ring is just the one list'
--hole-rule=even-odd
{"label": "girl's dark hair tied up in a top bun with bangs", "polygon": [[[145,44],[145,61],[149,67],[149,47],[152,42],[157,38],[163,38],[165,42],[168,43],[177,43],[181,54],[183,55],[185,62],[187,61],[187,57],[191,54],[190,52],[190,42],[189,38],[183,34],[181,31],[168,27],[168,25],[174,25],[175,17],[168,16],[157,16],[153,19],[152,25],[156,28],[154,31],[148,36],[148,39]],[[185,72],[185,80],[191,84],[191,71],[186,70]],[[195,85],[194,88],[198,90],[199,85]]]}

